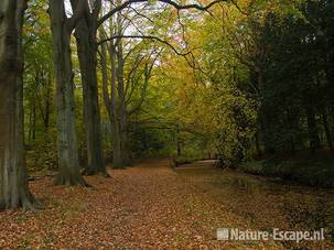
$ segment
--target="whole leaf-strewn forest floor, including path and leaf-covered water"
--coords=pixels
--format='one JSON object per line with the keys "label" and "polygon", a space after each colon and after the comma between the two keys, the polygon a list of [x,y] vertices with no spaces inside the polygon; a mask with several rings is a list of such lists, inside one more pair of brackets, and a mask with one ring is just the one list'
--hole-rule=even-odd
{"label": "whole leaf-strewn forest floor, including path and leaf-covered water", "polygon": [[268,183],[209,162],[173,170],[148,160],[108,171],[110,178],[87,177],[90,188],[55,187],[49,177],[31,182],[44,208],[0,213],[0,248],[284,249],[291,243],[218,241],[216,229],[311,230],[331,227],[333,218],[333,191]]}

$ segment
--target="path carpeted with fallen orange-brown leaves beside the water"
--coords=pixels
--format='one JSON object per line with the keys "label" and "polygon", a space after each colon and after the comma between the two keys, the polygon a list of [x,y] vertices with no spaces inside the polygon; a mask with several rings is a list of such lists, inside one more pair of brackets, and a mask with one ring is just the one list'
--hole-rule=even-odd
{"label": "path carpeted with fallen orange-brown leaves beside the water", "polygon": [[[245,200],[236,199],[237,196],[228,198],[230,193],[222,193],[215,186],[214,173],[220,176],[220,170],[203,171],[208,171],[211,177],[201,171],[191,174],[184,173],[186,170],[173,171],[168,161],[151,160],[127,170],[109,170],[111,178],[87,177],[91,188],[54,187],[49,178],[32,182],[32,191],[45,208],[37,214],[0,213],[0,247],[282,248],[272,241],[217,241],[217,228],[256,229],[263,224],[243,214],[240,203]],[[225,175],[228,180],[229,173]],[[241,193],[239,196],[243,198]],[[268,197],[267,202],[271,199]],[[256,197],[248,206],[257,206],[256,200],[262,203]],[[279,213],[272,213],[274,207],[263,213],[265,218],[279,217]]]}

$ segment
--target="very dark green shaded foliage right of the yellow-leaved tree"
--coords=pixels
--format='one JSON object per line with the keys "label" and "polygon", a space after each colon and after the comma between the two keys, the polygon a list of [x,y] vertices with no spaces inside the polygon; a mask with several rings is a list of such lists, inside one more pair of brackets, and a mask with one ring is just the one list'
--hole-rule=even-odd
{"label": "very dark green shaded foliage right of the yellow-leaved tree", "polygon": [[299,7],[303,17],[269,12],[259,26],[257,40],[267,50],[260,120],[263,143],[272,151],[303,149],[303,140],[314,143],[314,137],[321,132],[317,121],[312,120],[331,109],[333,97],[325,90],[326,53],[333,48],[325,42],[323,24],[328,20],[323,8],[332,7],[322,1],[305,1]]}

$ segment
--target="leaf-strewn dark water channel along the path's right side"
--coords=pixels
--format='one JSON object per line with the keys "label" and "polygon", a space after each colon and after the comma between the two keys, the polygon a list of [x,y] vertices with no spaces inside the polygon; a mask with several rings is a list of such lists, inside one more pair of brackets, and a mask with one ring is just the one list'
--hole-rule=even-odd
{"label": "leaf-strewn dark water channel along the path's right side", "polygon": [[243,216],[254,228],[324,228],[326,237],[334,241],[334,189],[272,182],[203,164],[177,169],[176,173],[185,182],[192,182],[198,192],[209,193],[215,200]]}

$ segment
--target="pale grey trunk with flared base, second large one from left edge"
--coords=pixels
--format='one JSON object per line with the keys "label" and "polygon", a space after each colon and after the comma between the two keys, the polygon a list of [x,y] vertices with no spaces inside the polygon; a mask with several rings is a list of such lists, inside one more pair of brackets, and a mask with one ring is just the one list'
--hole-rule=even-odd
{"label": "pale grey trunk with flared base, second large one from left edge", "polygon": [[71,61],[71,32],[64,2],[50,0],[53,59],[56,78],[56,120],[60,173],[58,185],[87,185],[79,172],[75,130],[74,83]]}

